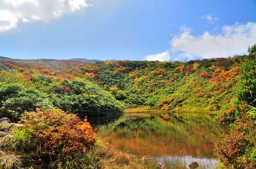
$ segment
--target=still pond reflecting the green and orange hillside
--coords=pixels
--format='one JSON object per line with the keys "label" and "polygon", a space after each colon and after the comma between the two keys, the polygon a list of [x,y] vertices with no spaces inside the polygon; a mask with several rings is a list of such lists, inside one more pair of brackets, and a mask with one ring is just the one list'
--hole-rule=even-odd
{"label": "still pond reflecting the green and orange hillside", "polygon": [[110,123],[108,142],[135,155],[164,163],[198,162],[203,168],[216,168],[212,141],[221,128],[214,116],[200,112],[137,112],[125,114]]}

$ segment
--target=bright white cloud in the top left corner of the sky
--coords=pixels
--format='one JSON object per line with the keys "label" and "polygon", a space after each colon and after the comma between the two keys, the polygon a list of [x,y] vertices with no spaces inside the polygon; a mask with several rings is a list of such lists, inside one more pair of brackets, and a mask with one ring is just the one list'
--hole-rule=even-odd
{"label": "bright white cloud in the top left corner of the sky", "polygon": [[20,22],[48,21],[87,6],[86,0],[0,0],[0,32]]}

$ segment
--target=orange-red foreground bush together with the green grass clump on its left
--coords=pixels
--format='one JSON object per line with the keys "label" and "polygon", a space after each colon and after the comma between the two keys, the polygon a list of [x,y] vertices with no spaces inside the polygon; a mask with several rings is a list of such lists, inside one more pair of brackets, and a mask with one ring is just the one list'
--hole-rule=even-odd
{"label": "orange-red foreground bush together with the green grass clump on its left", "polygon": [[53,168],[98,165],[92,151],[96,143],[94,131],[86,119],[81,121],[76,115],[60,109],[36,109],[35,112],[25,112],[22,122],[22,129],[14,128],[3,138],[1,148],[6,152],[27,154],[24,165],[35,162]]}

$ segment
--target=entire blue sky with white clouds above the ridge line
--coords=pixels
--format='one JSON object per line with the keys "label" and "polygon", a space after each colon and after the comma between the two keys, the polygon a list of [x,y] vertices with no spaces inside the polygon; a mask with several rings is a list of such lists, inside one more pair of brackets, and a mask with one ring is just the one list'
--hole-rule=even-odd
{"label": "entire blue sky with white clouds above the ridge line", "polygon": [[183,61],[256,43],[255,0],[8,1],[0,0],[3,57]]}

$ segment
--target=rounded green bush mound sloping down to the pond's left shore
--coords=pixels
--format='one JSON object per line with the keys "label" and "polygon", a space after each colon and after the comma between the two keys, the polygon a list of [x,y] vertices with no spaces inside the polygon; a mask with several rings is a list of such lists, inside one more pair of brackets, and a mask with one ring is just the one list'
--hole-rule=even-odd
{"label": "rounded green bush mound sloping down to the pond's left shore", "polygon": [[[65,93],[60,89],[66,89]],[[111,94],[90,81],[66,82],[66,86],[58,87],[52,97],[53,104],[63,110],[74,112],[79,117],[100,116],[123,111],[123,105]]]}

